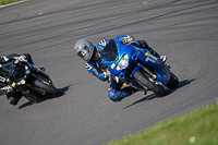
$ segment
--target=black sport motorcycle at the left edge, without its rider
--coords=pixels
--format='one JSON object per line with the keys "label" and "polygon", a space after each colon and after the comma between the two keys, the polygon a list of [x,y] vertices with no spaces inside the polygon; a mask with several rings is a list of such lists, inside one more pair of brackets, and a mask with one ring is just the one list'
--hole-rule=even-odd
{"label": "black sport motorcycle at the left edge, without its rider", "polygon": [[12,60],[3,64],[1,70],[5,76],[1,80],[4,78],[9,84],[4,88],[8,92],[21,92],[28,100],[46,95],[62,95],[48,74],[27,61]]}

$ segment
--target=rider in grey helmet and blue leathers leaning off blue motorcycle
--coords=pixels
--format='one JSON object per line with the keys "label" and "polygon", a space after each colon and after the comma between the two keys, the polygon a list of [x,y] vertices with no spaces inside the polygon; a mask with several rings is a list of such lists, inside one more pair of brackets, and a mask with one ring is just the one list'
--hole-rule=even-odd
{"label": "rider in grey helmet and blue leathers leaning off blue motorcycle", "polygon": [[[164,63],[167,60],[166,56],[158,55],[154,49],[152,49],[145,40],[135,40],[133,36],[118,36],[122,45],[133,45],[137,48],[147,49],[152,55],[159,58]],[[88,39],[80,39],[75,46],[74,50],[78,57],[86,61],[86,70],[95,75],[100,81],[109,81],[110,87],[108,90],[108,96],[112,101],[121,101],[123,98],[137,92],[136,88],[131,86],[123,86],[123,82],[119,81],[118,77],[111,77],[110,72],[104,64],[101,64],[100,52],[107,46],[110,39],[102,39],[96,46],[93,45]],[[146,93],[145,93],[146,94]]]}

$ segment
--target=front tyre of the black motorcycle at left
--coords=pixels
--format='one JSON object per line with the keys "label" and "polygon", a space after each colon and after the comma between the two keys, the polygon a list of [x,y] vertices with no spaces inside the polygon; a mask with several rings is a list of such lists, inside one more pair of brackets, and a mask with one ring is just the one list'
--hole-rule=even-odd
{"label": "front tyre of the black motorcycle at left", "polygon": [[62,95],[62,93],[59,89],[57,89],[53,86],[47,85],[47,84],[40,82],[39,80],[36,80],[34,82],[34,86],[43,88],[46,92],[48,92],[49,94],[53,94],[53,95],[57,95],[57,96],[61,96]]}

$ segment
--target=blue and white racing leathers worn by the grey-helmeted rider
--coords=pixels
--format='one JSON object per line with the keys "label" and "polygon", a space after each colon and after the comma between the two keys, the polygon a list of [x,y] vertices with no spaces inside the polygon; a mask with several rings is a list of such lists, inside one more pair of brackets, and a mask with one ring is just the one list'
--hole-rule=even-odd
{"label": "blue and white racing leathers worn by the grey-helmeted rider", "polygon": [[[145,40],[135,40],[132,36],[118,36],[121,44],[123,45],[133,45],[137,48],[147,49],[154,56],[160,58],[160,56],[154,51],[150,47],[148,47]],[[109,43],[110,39],[104,39],[99,44],[96,45],[97,52],[100,52],[106,45]],[[132,95],[133,93],[137,92],[136,88],[123,86],[123,82],[119,81],[118,77],[110,77],[109,73],[107,73],[106,68],[101,64],[101,59],[95,60],[90,59],[86,62],[87,71],[95,75],[100,81],[110,81],[110,87],[108,90],[108,96],[113,101],[120,101],[121,99],[125,98],[126,96]]]}

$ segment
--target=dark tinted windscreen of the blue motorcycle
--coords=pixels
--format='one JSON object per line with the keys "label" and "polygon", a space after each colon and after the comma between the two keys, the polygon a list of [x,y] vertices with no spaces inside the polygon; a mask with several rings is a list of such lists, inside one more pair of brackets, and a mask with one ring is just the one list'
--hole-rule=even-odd
{"label": "dark tinted windscreen of the blue motorcycle", "polygon": [[101,51],[102,59],[106,61],[113,61],[118,57],[118,49],[116,41],[110,39],[110,41],[106,45],[104,50]]}

